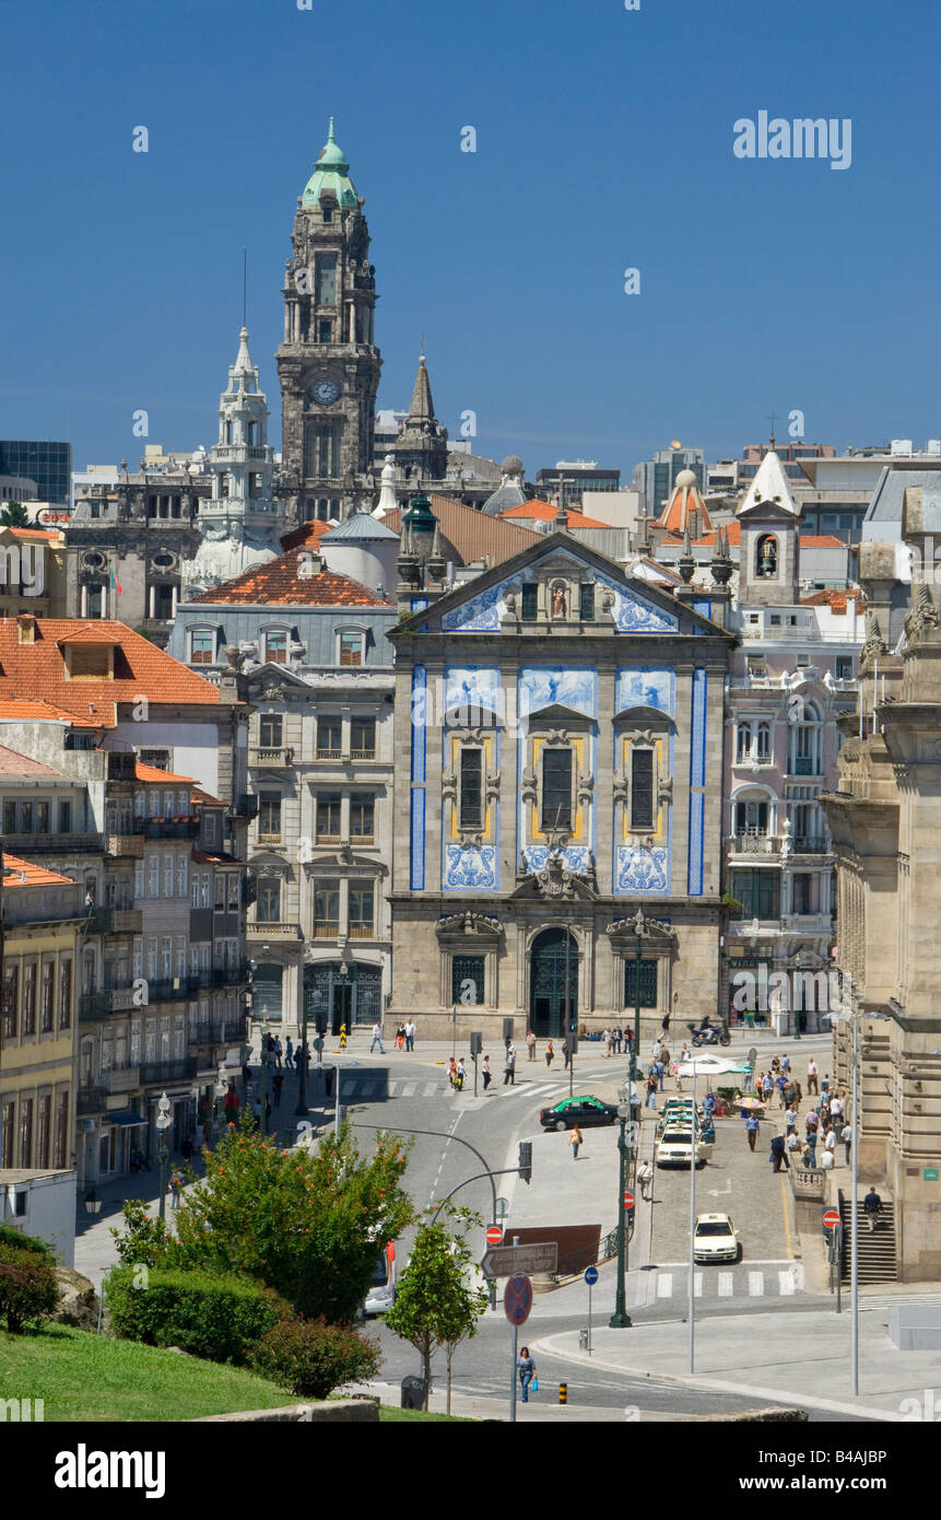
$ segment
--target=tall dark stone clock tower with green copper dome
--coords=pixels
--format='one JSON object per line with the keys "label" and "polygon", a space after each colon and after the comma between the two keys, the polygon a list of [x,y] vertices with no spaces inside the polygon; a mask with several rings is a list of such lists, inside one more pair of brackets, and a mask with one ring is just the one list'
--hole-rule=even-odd
{"label": "tall dark stone clock tower with green copper dome", "polygon": [[321,150],[284,271],[281,459],[287,517],[345,518],[374,505],[372,435],[382,359],[363,199],[333,135]]}

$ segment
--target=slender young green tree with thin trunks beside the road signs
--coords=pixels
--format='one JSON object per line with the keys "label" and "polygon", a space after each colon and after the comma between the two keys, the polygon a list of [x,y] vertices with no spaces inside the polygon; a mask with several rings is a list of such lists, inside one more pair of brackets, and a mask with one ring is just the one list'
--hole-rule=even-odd
{"label": "slender young green tree with thin trunks beside the road signs", "polygon": [[470,1280],[473,1251],[464,1234],[464,1228],[470,1225],[480,1227],[480,1216],[467,1208],[448,1208],[447,1213],[451,1221],[458,1221],[459,1228],[447,1230],[439,1224],[418,1227],[386,1324],[421,1356],[424,1409],[429,1408],[432,1356],[438,1350],[444,1351],[450,1414],[455,1351],[464,1339],[476,1336],[488,1295],[485,1287],[474,1286]]}

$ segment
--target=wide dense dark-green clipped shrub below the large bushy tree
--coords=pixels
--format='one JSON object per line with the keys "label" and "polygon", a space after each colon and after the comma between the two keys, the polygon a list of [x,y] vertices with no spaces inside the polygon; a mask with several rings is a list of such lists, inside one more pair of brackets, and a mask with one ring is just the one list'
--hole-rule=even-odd
{"label": "wide dense dark-green clipped shrub below the large bushy tree", "polygon": [[106,1294],[111,1327],[120,1339],[178,1345],[208,1362],[236,1365],[287,1313],[269,1289],[208,1272],[154,1269],[144,1275],[119,1266],[106,1280]]}

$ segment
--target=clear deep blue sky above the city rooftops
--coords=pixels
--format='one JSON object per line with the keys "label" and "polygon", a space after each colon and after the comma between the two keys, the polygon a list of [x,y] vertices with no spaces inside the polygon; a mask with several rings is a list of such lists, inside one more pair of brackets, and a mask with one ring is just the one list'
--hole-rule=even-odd
{"label": "clear deep blue sky above the city rooftops", "polygon": [[[372,234],[380,406],[407,406],[424,334],[451,436],[473,409],[476,451],[531,477],[629,473],[670,438],[737,454],[772,409],[841,448],[938,436],[938,9],[8,3],[0,436],[137,464],[144,407],[150,442],[208,447],[248,246],[278,444],[280,284],[330,114]],[[851,167],[736,158],[762,109],[850,117]]]}

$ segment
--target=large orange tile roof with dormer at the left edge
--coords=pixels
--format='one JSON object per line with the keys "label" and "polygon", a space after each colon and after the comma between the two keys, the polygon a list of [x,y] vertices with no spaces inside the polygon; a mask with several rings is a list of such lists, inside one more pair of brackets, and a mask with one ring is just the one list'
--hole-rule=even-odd
{"label": "large orange tile roof with dormer at the left edge", "polygon": [[[74,640],[82,628],[94,629],[97,638],[114,646],[114,676],[82,676],[70,679],[62,643]],[[38,711],[36,717],[67,714],[84,727],[112,728],[116,705],[146,696],[150,702],[216,704],[219,692],[210,681],[195,675],[172,655],[147,638],[141,638],[126,623],[112,619],[82,623],[68,617],[36,617],[35,641],[18,643],[15,617],[0,619],[0,716],[3,705],[43,701],[58,711]],[[26,698],[26,693],[30,698]],[[21,717],[21,713],[9,714]]]}

